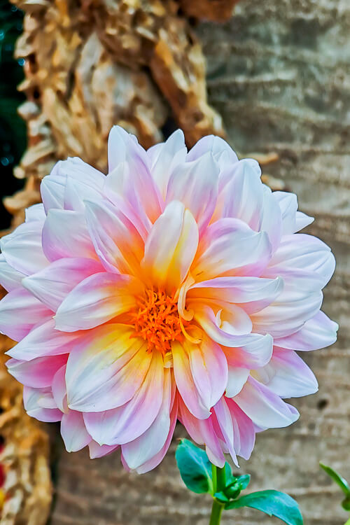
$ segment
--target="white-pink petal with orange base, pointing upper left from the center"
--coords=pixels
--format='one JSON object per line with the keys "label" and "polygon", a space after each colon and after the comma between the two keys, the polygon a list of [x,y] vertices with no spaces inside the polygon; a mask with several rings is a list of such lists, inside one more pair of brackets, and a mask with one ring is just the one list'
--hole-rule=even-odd
{"label": "white-pink petal with orange base, pointing upper left from the center", "polygon": [[94,249],[109,272],[139,273],[144,241],[132,222],[108,202],[85,201]]}

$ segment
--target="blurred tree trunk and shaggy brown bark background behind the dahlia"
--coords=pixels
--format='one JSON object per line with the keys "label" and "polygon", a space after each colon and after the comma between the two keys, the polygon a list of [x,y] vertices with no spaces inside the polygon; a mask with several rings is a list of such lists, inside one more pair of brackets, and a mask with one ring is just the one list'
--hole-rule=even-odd
{"label": "blurred tree trunk and shaggy brown bark background behind the dahlia", "polygon": [[[305,524],[339,525],[346,521],[342,495],[318,461],[350,478],[350,3],[236,3],[0,0],[1,194],[15,193],[5,200],[7,210],[1,207],[1,229],[38,202],[40,180],[59,158],[78,155],[104,170],[114,124],[145,147],[178,126],[188,146],[220,134],[240,157],[259,160],[269,186],[297,193],[300,209],[316,218],[309,232],[337,258],[324,310],[339,323],[339,339],[305,356],[319,392],[293,400],[301,414],[293,426],[258,435],[241,473],[252,474],[252,489],[297,498]],[[6,381],[0,376],[5,398],[15,388]],[[12,423],[1,418],[6,444]],[[209,500],[205,506],[189,494],[176,471],[176,440],[160,467],[140,477],[122,470],[118,454],[94,461],[86,451],[67,454],[54,425],[26,432],[18,437],[22,456],[15,449],[6,456],[18,475],[8,481],[7,497],[22,503],[1,523],[207,524]],[[176,437],[183,435],[177,428]],[[39,449],[40,461],[22,468]],[[222,522],[232,519],[276,523],[253,510]]]}

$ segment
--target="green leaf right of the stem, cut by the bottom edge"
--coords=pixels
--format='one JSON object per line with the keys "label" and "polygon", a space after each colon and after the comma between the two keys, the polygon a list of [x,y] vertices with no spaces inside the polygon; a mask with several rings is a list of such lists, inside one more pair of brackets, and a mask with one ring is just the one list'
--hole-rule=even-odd
{"label": "green leaf right of the stem, cut by the bottom edge", "polygon": [[275,516],[288,525],[302,525],[302,514],[297,502],[288,494],[278,491],[260,491],[242,496],[238,500],[226,503],[225,509],[251,507],[261,510],[269,516]]}

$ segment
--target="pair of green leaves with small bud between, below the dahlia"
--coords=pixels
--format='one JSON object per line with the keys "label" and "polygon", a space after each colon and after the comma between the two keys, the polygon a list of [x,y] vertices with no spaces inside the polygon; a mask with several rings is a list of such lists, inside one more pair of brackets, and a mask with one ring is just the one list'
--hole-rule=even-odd
{"label": "pair of green leaves with small bud between, below the dahlia", "polygon": [[204,450],[196,447],[189,440],[181,440],[176,450],[176,461],[183,482],[188,489],[199,493],[210,493],[225,510],[241,507],[251,507],[261,510],[269,516],[274,516],[287,525],[302,525],[302,515],[293,498],[282,492],[266,490],[240,496],[246,489],[251,477],[249,475],[234,476],[228,463],[225,463],[223,474],[225,486],[215,491],[212,465]]}

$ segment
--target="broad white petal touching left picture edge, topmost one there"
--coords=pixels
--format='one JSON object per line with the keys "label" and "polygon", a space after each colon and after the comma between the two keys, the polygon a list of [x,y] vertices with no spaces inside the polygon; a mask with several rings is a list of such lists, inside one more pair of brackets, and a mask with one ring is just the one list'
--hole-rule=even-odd
{"label": "broad white petal touching left picture edge, topmost one there", "polygon": [[18,272],[30,275],[48,265],[41,247],[42,229],[43,221],[29,221],[0,239],[6,262]]}

